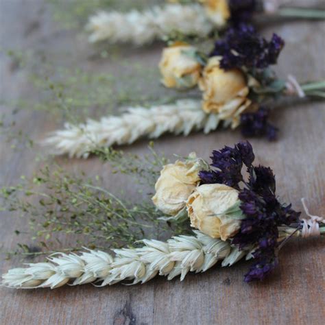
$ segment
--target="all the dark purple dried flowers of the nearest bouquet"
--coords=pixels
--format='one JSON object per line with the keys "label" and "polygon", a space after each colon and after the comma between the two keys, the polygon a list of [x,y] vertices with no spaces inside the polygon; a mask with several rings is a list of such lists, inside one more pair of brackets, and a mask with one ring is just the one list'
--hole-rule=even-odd
{"label": "all the dark purple dried flowers of the nearest bouquet", "polygon": [[[300,213],[291,209],[291,204],[280,204],[272,169],[252,165],[255,156],[248,141],[214,151],[210,158],[214,169],[200,171],[201,182],[226,184],[239,190],[240,209],[245,219],[232,244],[239,250],[254,247],[255,263],[245,274],[245,282],[263,280],[278,265],[278,227],[298,223]],[[241,173],[244,165],[248,180]]]}

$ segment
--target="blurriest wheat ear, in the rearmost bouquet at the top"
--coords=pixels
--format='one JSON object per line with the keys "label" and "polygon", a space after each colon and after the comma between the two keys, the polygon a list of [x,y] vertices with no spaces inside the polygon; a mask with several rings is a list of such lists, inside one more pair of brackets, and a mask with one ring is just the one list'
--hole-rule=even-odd
{"label": "blurriest wheat ear, in the rearmost bouquet at the top", "polygon": [[213,29],[213,23],[201,5],[168,4],[144,12],[98,12],[89,18],[86,29],[91,32],[91,42],[108,40],[143,45],[171,32],[206,36]]}

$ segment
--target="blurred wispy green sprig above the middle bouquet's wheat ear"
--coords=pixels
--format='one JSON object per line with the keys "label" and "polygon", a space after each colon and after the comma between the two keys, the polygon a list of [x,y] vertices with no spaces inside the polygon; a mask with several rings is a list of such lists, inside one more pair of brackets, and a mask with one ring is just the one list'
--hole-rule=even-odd
{"label": "blurred wispy green sprig above the middle bouquet's wheat ear", "polygon": [[[9,56],[16,69],[27,73],[29,86],[32,86],[30,98],[1,101],[15,112],[40,111],[51,114],[57,121],[75,124],[88,118],[119,114],[117,111],[121,107],[166,104],[179,97],[157,82],[159,71],[156,64],[150,66],[147,62],[123,58],[119,48],[101,51],[100,58],[105,58],[105,61],[100,72],[60,66],[43,53],[2,52]],[[100,58],[90,60],[100,61]],[[109,62],[108,65],[105,62]],[[110,69],[112,66],[115,69]],[[152,88],[153,84],[156,87]],[[149,93],[148,88],[151,90]]]}

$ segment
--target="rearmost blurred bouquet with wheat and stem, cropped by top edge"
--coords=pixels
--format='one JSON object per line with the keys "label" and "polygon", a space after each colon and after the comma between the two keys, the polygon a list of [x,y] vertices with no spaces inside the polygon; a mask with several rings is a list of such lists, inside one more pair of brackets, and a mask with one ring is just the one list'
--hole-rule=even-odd
{"label": "rearmost blurred bouquet with wheat and stem, cropped by top edge", "polygon": [[215,0],[169,1],[165,6],[154,6],[143,12],[127,13],[101,11],[88,19],[86,29],[89,40],[111,43],[143,45],[166,36],[207,37],[227,23],[251,21],[254,14],[284,16],[296,19],[325,19],[324,10],[311,8],[286,8],[277,1]]}

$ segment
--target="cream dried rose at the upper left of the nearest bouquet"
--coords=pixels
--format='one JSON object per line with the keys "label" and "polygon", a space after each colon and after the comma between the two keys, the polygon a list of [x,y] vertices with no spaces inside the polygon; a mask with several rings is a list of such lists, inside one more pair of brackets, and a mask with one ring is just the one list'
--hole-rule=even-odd
{"label": "cream dried rose at the upper left of the nearest bouquet", "polygon": [[205,165],[194,153],[186,161],[166,165],[156,182],[156,194],[152,197],[155,206],[167,215],[177,215],[199,183],[198,174]]}

